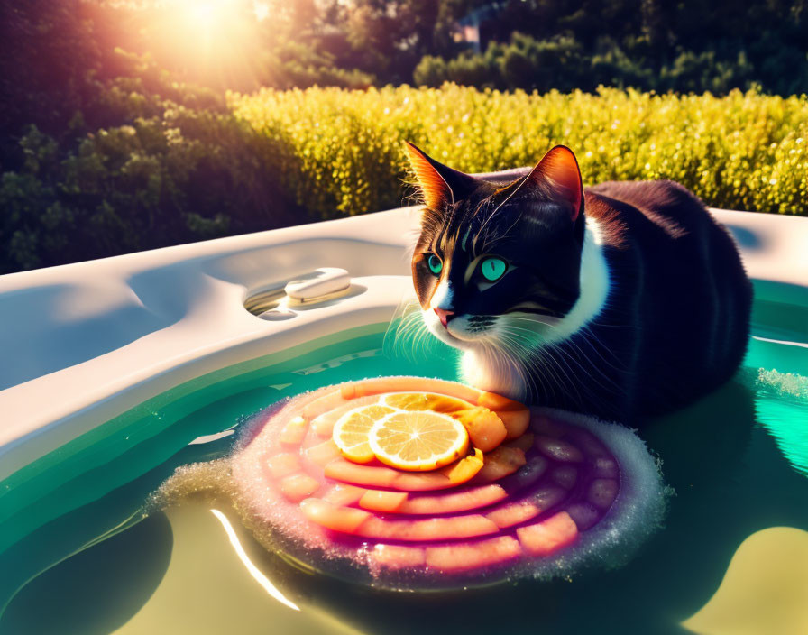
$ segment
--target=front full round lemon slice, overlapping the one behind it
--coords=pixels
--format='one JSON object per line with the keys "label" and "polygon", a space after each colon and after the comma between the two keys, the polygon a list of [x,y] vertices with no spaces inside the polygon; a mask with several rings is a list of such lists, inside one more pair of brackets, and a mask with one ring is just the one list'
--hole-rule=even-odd
{"label": "front full round lemon slice, overlapping the one behind it", "polygon": [[449,465],[469,447],[469,435],[462,423],[423,410],[399,411],[380,419],[371,428],[369,441],[381,463],[411,472]]}

